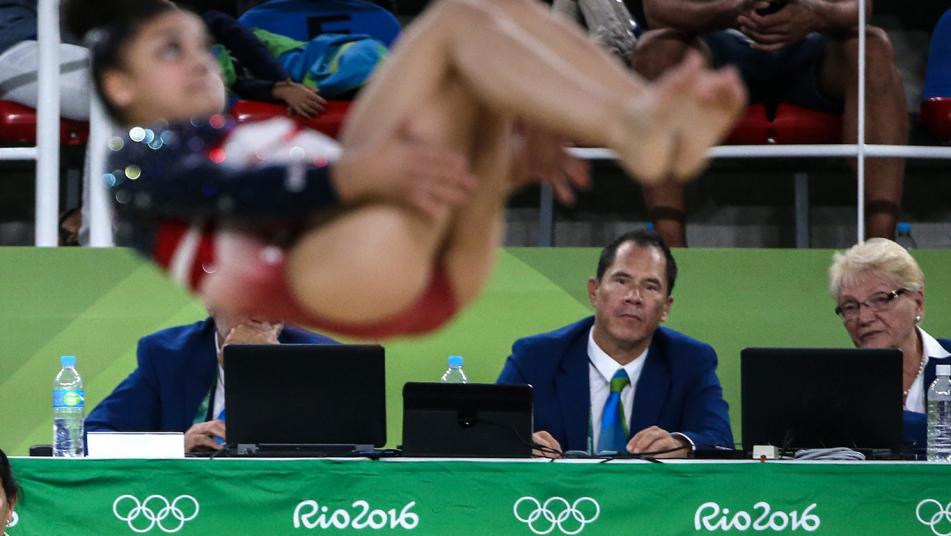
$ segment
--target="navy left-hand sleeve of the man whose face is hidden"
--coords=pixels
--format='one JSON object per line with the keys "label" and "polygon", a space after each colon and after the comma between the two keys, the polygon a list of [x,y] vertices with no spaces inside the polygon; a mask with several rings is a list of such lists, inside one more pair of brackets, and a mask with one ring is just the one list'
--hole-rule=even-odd
{"label": "navy left-hand sleeve of the man whose face is hidden", "polygon": [[138,367],[86,418],[87,432],[151,432],[160,428],[161,400],[149,354],[148,337],[139,341]]}

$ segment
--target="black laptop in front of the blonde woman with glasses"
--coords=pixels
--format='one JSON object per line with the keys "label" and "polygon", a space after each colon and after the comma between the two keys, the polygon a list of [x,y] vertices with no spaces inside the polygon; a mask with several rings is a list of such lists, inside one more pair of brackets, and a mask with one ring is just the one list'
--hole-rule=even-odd
{"label": "black laptop in front of the blonde woman with glasses", "polygon": [[901,351],[746,348],[740,368],[746,451],[901,450]]}

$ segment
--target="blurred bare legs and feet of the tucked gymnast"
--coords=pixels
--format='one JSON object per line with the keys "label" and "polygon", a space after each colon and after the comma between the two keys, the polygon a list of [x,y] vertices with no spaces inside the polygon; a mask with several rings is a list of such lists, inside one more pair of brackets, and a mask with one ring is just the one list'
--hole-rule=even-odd
{"label": "blurred bare legs and feet of the tucked gymnast", "polygon": [[735,74],[700,63],[646,85],[531,0],[440,1],[361,94],[343,148],[408,132],[468,154],[479,187],[437,215],[377,203],[322,222],[289,254],[292,291],[315,315],[371,322],[410,306],[439,263],[465,305],[499,244],[513,121],[612,148],[642,180],[683,174],[702,165],[744,99]]}

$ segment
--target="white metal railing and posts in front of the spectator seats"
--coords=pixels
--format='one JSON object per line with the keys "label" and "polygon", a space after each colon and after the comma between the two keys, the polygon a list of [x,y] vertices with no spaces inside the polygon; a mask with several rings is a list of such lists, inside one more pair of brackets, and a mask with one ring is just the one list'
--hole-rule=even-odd
{"label": "white metal railing and posts in front of the spectator seats", "polygon": [[[859,27],[865,28],[865,0],[859,0]],[[36,245],[57,244],[59,203],[59,88],[56,84],[59,37],[58,0],[39,0],[39,87],[36,147],[0,148],[0,160],[36,160]],[[835,145],[730,145],[710,149],[711,158],[808,158],[852,157],[856,159],[857,241],[865,236],[865,160],[867,158],[951,159],[951,147],[911,147],[867,145],[865,143],[865,32],[859,32],[858,77],[858,139],[855,144]],[[96,101],[96,99],[93,99]],[[108,122],[98,102],[90,110],[89,147],[102,148],[109,135]],[[612,151],[600,148],[575,148],[580,158],[605,160],[615,158]],[[111,215],[108,192],[98,178],[102,176],[105,153],[87,152],[87,188],[90,188],[90,245],[111,246]]]}

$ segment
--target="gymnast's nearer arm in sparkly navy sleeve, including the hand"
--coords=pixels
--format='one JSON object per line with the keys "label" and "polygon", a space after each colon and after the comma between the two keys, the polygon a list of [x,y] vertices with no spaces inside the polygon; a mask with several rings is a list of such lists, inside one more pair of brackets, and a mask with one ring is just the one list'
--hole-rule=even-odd
{"label": "gymnast's nearer arm in sparkly navy sleeve, including the hand", "polygon": [[[348,149],[336,160],[337,150],[328,145],[326,158],[294,158],[291,150],[289,159],[263,161],[266,151],[294,145],[283,136],[294,134],[292,129],[272,126],[276,130],[266,123],[215,127],[195,121],[147,130],[144,137],[144,129],[130,130],[125,140],[110,143],[114,152],[106,181],[117,211],[148,218],[287,220],[384,200],[438,214],[465,203],[478,184],[464,155],[402,131]],[[258,130],[240,132],[246,147],[226,151],[228,137],[247,128]],[[270,149],[263,146],[268,143]]]}

